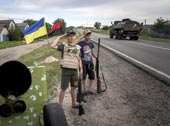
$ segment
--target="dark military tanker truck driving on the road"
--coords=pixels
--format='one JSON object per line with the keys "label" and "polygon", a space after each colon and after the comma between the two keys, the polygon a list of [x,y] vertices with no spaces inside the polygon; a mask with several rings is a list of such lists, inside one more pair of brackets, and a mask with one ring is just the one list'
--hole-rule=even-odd
{"label": "dark military tanker truck driving on the road", "polygon": [[129,18],[122,19],[122,21],[111,22],[110,38],[125,39],[127,37],[130,40],[138,40],[139,33],[142,30],[143,24],[133,21]]}

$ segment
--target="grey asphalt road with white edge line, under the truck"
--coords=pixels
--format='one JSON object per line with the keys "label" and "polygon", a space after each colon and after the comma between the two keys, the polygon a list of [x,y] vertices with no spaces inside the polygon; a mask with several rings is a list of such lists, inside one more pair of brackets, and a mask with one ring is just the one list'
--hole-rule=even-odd
{"label": "grey asphalt road with white edge line, under the truck", "polygon": [[[81,29],[79,29],[82,32]],[[156,72],[157,76],[163,76],[170,80],[170,44],[163,42],[153,42],[146,40],[115,40],[108,35],[92,33],[92,39],[97,41],[101,38],[101,44],[111,50],[125,55],[128,59],[133,59],[142,67],[147,66],[151,72]],[[162,78],[161,78],[162,79]],[[164,79],[164,78],[163,78]],[[170,82],[170,81],[169,81]]]}

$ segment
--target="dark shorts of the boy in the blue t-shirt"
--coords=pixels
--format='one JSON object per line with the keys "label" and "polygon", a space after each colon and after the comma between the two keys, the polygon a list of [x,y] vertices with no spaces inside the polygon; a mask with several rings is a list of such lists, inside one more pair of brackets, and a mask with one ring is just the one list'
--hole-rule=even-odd
{"label": "dark shorts of the boy in the blue t-shirt", "polygon": [[86,76],[89,76],[90,80],[94,80],[95,79],[95,75],[94,75],[94,64],[83,64],[83,80],[86,79]]}

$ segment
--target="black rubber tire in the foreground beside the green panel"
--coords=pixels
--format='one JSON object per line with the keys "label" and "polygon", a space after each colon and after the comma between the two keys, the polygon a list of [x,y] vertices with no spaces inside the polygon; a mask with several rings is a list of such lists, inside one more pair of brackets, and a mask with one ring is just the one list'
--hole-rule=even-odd
{"label": "black rubber tire in the foreground beside the green panel", "polygon": [[62,107],[58,103],[50,103],[43,108],[44,126],[67,126]]}

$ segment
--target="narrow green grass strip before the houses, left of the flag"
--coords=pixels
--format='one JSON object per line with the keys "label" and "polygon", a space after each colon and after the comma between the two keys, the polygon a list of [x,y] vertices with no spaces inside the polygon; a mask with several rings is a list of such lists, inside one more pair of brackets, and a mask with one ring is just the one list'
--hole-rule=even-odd
{"label": "narrow green grass strip before the houses, left of the flag", "polygon": [[0,49],[15,47],[25,45],[24,41],[7,41],[7,42],[0,42]]}

